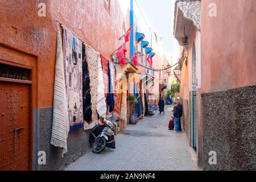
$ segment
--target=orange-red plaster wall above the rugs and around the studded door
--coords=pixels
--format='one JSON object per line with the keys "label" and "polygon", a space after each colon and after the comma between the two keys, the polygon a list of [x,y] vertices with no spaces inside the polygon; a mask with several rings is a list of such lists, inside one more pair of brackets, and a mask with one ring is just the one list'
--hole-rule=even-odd
{"label": "orange-red plaster wall above the rugs and around the studded door", "polygon": [[[38,4],[46,3],[46,17],[38,16]],[[129,28],[129,9],[123,15],[117,0],[110,1],[106,10],[104,1],[0,1],[0,59],[24,64],[26,56],[16,58],[6,47],[31,55],[35,69],[33,78],[34,106],[52,106],[55,75],[56,32],[58,20],[76,36],[102,55],[110,59],[110,54],[121,46],[123,30]],[[17,28],[17,34],[11,32]],[[129,44],[127,44],[129,56]],[[24,61],[26,60],[26,61]]]}

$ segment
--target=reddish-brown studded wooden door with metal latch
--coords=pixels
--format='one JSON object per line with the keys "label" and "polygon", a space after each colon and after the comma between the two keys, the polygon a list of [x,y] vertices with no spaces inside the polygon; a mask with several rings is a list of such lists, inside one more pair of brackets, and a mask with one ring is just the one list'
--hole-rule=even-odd
{"label": "reddish-brown studded wooden door with metal latch", "polygon": [[28,170],[30,85],[0,81],[0,171]]}

